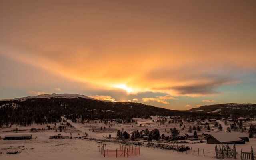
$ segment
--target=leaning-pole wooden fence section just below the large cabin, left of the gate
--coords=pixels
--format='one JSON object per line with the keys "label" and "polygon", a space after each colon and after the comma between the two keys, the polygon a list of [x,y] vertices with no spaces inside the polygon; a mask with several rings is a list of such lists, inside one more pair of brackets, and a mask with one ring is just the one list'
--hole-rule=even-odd
{"label": "leaning-pole wooden fence section just below the large cabin, left of the gate", "polygon": [[226,146],[215,146],[215,153],[217,159],[224,159],[224,158],[234,158],[236,159],[236,146],[233,146],[231,149],[228,144]]}

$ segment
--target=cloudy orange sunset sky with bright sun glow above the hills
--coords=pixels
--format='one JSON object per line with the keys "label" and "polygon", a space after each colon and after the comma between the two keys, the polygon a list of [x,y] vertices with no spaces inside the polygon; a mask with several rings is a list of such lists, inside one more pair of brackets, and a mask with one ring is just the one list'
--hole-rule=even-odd
{"label": "cloudy orange sunset sky with bright sun glow above the hills", "polygon": [[254,0],[0,0],[0,99],[256,103]]}

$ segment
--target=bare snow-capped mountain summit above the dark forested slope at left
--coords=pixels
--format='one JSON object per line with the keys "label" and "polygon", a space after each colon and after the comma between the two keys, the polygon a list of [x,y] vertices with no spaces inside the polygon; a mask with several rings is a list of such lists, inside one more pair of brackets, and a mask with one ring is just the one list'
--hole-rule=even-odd
{"label": "bare snow-capped mountain summit above the dark forested slope at left", "polygon": [[[28,97],[22,97],[22,98],[15,98],[12,100],[18,100],[18,101],[25,101],[27,99],[38,99],[38,98],[68,98],[68,99],[72,99],[72,98],[85,98],[85,99],[90,99],[90,100],[96,100],[94,98],[90,98],[88,96],[85,95],[80,95],[80,94],[69,94],[69,93],[62,93],[62,94],[41,94],[38,96],[28,96]],[[10,100],[10,101],[12,101]],[[5,100],[6,101],[6,100]]]}

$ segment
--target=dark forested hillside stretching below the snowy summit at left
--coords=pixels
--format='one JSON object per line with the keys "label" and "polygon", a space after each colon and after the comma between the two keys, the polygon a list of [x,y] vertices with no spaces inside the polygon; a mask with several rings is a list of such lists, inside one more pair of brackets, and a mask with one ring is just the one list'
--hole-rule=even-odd
{"label": "dark forested hillside stretching below the snowy summit at left", "polygon": [[38,98],[23,101],[0,101],[0,127],[12,124],[30,125],[59,122],[61,116],[76,120],[122,119],[130,122],[132,118],[150,116],[181,116],[182,118],[204,119],[221,118],[218,114],[192,113],[168,110],[141,103],[105,102],[85,98]]}

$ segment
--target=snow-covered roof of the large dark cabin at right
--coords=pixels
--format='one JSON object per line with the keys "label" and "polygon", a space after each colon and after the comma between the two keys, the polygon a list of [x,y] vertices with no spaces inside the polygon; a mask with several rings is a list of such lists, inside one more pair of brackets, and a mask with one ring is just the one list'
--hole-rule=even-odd
{"label": "snow-covered roof of the large dark cabin at right", "polygon": [[211,133],[208,134],[205,138],[208,137],[214,137],[216,140],[218,140],[221,143],[227,143],[227,142],[240,142],[243,141],[241,138],[247,138],[248,134],[244,133]]}

